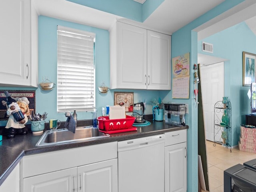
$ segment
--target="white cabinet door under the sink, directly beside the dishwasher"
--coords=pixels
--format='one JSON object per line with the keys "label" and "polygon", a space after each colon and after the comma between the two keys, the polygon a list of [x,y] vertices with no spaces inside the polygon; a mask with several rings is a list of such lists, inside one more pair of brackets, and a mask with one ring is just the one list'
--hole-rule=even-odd
{"label": "white cabinet door under the sink, directly beside the dishwasher", "polygon": [[78,191],[117,192],[117,159],[78,167]]}

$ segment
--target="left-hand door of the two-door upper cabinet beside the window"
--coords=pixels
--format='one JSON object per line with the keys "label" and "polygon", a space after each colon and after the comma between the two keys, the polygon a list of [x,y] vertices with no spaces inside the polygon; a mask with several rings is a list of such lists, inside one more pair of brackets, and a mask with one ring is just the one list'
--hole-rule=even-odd
{"label": "left-hand door of the two-door upper cabinet beside the window", "polygon": [[146,89],[147,30],[117,22],[117,88]]}

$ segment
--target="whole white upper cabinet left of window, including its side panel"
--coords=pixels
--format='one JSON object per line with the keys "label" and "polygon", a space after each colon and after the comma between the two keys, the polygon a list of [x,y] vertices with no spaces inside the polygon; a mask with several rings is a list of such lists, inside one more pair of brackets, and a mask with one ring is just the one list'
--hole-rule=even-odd
{"label": "whole white upper cabinet left of window, including its side panel", "polygon": [[38,14],[31,0],[2,0],[0,86],[38,86]]}

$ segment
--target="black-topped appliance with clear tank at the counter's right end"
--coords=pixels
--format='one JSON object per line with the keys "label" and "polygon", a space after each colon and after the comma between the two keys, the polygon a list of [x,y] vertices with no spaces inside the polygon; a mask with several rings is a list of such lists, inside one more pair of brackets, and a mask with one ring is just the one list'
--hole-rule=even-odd
{"label": "black-topped appliance with clear tank at the counter's right end", "polygon": [[165,123],[179,127],[185,126],[185,112],[185,104],[164,104]]}

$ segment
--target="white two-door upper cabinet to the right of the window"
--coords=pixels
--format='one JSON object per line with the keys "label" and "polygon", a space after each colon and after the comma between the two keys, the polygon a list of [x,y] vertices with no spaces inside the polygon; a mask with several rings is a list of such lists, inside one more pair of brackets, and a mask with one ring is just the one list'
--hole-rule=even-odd
{"label": "white two-door upper cabinet to the right of the window", "polygon": [[110,88],[170,90],[171,36],[116,22],[110,30]]}

